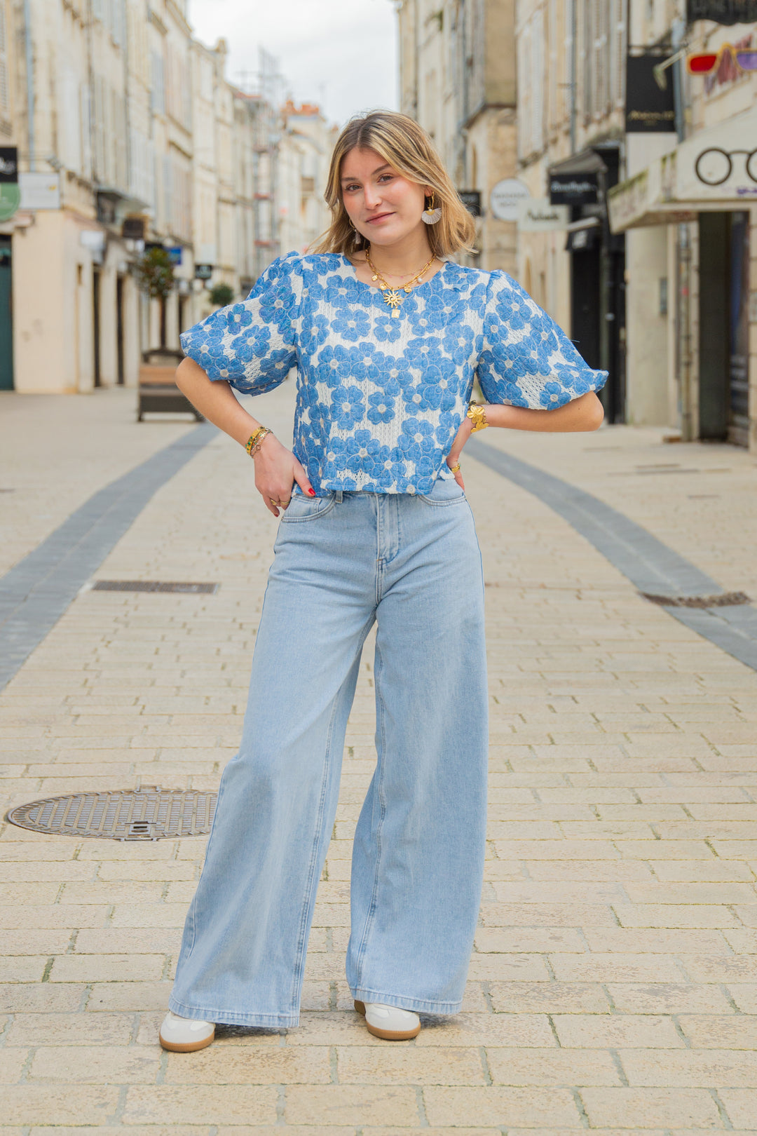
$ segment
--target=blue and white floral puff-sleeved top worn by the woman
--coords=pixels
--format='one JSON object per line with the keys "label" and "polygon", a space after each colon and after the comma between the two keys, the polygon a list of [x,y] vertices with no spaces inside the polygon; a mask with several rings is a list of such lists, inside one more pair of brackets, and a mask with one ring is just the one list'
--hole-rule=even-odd
{"label": "blue and white floral puff-sleeved top worn by the woman", "polygon": [[297,368],[294,452],[317,493],[428,493],[474,377],[488,402],[554,409],[602,387],[555,323],[504,272],[446,261],[403,294],[382,293],[338,253],[275,260],[246,300],[182,335],[211,379],[260,394]]}

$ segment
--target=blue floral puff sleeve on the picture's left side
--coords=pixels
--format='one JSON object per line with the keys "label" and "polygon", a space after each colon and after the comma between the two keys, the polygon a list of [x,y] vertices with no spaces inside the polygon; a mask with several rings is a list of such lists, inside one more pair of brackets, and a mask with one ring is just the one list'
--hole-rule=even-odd
{"label": "blue floral puff sleeve on the picture's left side", "polygon": [[283,383],[297,359],[301,258],[278,257],[241,303],[220,308],[180,336],[186,356],[209,378],[261,394]]}

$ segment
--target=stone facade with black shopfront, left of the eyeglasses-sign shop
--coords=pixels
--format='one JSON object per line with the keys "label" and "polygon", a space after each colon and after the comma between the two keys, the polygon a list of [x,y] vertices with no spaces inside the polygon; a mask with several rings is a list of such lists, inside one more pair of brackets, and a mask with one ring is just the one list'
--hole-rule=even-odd
{"label": "stone facade with black shopfront, left of the eyeglasses-sign shop", "polygon": [[626,3],[516,0],[515,10],[519,176],[530,193],[518,276],[587,362],[609,371],[605,415],[622,421],[626,250],[609,232],[606,193],[623,173]]}

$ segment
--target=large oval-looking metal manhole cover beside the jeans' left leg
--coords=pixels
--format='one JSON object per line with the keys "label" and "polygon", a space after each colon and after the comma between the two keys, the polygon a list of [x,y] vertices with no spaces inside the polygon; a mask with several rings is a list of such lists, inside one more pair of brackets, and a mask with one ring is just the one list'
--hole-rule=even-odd
{"label": "large oval-looking metal manhole cover beside the jeans' left leg", "polygon": [[18,804],[6,820],[34,833],[100,836],[113,841],[159,841],[210,832],[218,793],[137,788],[72,793]]}

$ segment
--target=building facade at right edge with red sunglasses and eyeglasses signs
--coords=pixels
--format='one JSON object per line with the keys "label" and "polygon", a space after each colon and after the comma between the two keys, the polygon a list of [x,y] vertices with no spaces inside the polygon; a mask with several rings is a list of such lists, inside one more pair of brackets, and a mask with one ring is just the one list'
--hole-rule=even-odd
{"label": "building facade at right edge with red sunglasses and eyeglasses signs", "polygon": [[757,451],[757,25],[718,23],[727,9],[707,0],[689,15],[712,19],[661,0],[631,11],[636,42],[663,48],[675,131],[630,135],[608,197],[632,250],[630,410]]}

